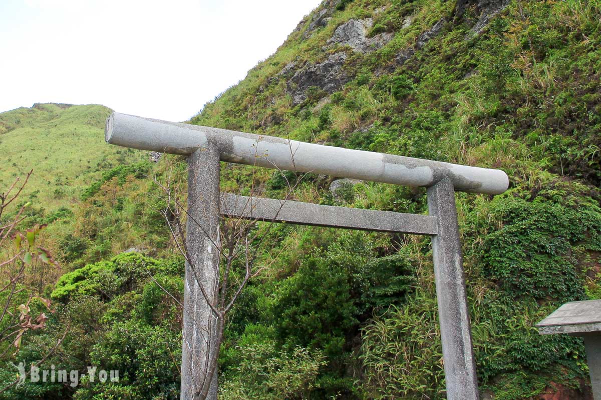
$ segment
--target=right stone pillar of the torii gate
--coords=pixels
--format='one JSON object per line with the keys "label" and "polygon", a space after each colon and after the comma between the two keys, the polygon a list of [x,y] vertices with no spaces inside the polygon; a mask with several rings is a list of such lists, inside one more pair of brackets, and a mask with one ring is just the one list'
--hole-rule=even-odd
{"label": "right stone pillar of the torii gate", "polygon": [[447,399],[478,400],[455,192],[450,178],[428,188],[428,209],[431,216],[438,217],[439,234],[432,237],[432,252]]}

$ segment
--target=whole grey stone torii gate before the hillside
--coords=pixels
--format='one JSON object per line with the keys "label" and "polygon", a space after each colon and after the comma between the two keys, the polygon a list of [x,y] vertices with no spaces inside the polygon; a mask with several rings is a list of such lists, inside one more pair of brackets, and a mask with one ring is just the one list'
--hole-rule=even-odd
{"label": "whole grey stone torii gate before the hillside", "polygon": [[[112,113],[106,122],[106,142],[188,157],[188,213],[206,230],[189,224],[186,237],[192,255],[201,261],[199,265],[203,270],[194,272],[186,264],[181,368],[183,400],[193,398],[194,383],[203,378],[198,360],[209,356],[210,339],[203,335],[198,323],[213,329],[211,324],[215,321],[204,297],[199,294],[193,273],[199,273],[208,282],[216,282],[219,278],[219,252],[213,251],[215,243],[207,239],[207,234],[218,237],[220,215],[431,236],[447,398],[479,399],[454,192],[501,194],[509,184],[504,172],[120,113]],[[429,215],[220,194],[219,161],[427,187]],[[248,204],[252,206],[248,208]],[[202,357],[195,357],[197,354]],[[215,374],[209,399],[216,397]]]}

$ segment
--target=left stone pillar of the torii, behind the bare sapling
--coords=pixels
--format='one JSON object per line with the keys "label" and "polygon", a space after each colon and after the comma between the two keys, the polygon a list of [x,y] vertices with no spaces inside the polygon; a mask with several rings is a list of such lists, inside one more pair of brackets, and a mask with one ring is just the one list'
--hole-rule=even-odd
{"label": "left stone pillar of the torii, behind the bare sapling", "polygon": [[[200,288],[215,302],[219,282],[219,152],[201,148],[188,158],[186,245],[194,268],[186,262],[182,348],[182,400],[200,393],[215,348],[216,317]],[[200,284],[199,284],[200,283]],[[208,400],[217,399],[217,373]]]}

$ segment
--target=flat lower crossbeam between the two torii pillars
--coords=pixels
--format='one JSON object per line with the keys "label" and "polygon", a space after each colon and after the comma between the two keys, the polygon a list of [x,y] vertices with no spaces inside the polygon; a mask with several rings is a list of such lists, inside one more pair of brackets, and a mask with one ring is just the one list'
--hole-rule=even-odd
{"label": "flat lower crossbeam between the two torii pillars", "polygon": [[323,206],[301,201],[259,199],[221,194],[221,214],[258,221],[370,230],[392,233],[438,234],[438,218],[391,211]]}

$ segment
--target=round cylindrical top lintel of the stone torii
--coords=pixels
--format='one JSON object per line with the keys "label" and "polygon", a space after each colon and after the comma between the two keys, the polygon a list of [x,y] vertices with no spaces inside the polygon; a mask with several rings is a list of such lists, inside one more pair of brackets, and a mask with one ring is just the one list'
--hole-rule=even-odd
{"label": "round cylindrical top lintel of the stone torii", "polygon": [[316,145],[121,113],[112,113],[106,121],[106,142],[180,155],[216,146],[221,161],[229,163],[413,187],[430,187],[448,176],[456,191],[469,193],[501,194],[509,185],[507,174],[501,170]]}

